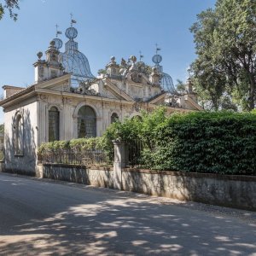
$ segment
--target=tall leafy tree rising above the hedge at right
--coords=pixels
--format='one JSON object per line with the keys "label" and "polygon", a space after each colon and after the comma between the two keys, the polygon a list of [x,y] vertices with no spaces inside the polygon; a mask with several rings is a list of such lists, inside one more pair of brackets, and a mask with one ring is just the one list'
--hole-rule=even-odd
{"label": "tall leafy tree rising above the hedge at right", "polygon": [[214,109],[231,98],[244,110],[255,108],[256,1],[218,0],[215,9],[197,15],[190,30],[197,90],[212,98]]}

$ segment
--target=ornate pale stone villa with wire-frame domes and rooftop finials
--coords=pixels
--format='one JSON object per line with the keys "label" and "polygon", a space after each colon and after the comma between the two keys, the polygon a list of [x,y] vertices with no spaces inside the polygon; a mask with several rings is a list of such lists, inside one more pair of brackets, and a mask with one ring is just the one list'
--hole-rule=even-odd
{"label": "ornate pale stone villa with wire-frame domes and rooftop finials", "polygon": [[112,122],[140,115],[141,109],[166,105],[167,113],[201,110],[190,82],[185,93],[177,94],[157,52],[152,67],[134,55],[120,63],[111,57],[102,73],[94,76],[75,41],[76,28],[68,27],[65,35],[63,51],[56,37],[45,60],[38,53],[34,84],[3,85],[7,170],[34,172],[41,143],[101,136]]}

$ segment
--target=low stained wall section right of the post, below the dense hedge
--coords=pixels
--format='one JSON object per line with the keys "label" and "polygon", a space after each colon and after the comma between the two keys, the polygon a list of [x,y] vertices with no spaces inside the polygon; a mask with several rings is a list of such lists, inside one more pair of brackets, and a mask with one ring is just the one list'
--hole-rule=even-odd
{"label": "low stained wall section right of the post, below the dense hedge", "polygon": [[256,177],[135,169],[122,171],[124,190],[256,211]]}

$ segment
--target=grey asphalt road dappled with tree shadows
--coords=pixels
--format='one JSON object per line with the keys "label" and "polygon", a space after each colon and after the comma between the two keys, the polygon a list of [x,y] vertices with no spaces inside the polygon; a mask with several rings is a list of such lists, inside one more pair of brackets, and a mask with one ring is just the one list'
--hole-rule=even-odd
{"label": "grey asphalt road dappled with tree shadows", "polygon": [[256,255],[256,212],[0,173],[1,255]]}

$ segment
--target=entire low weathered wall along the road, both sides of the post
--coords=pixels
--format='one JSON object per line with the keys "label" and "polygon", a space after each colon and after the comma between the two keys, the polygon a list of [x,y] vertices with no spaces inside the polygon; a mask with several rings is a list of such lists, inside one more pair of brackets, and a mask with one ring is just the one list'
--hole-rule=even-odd
{"label": "entire low weathered wall along the road, both sides of the post", "polygon": [[256,211],[256,177],[44,164],[43,177]]}

